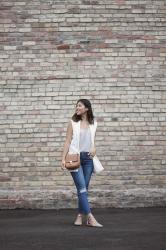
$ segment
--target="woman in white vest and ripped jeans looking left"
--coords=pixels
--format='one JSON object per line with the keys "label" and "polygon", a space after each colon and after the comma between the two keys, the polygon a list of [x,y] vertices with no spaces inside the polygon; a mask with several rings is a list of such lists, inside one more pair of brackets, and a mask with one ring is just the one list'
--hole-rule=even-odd
{"label": "woman in white vest and ripped jeans looking left", "polygon": [[[70,170],[78,195],[78,215],[74,225],[82,225],[82,217],[86,215],[87,225],[103,227],[93,216],[88,202],[88,186],[93,173],[93,156],[96,154],[94,143],[92,144],[91,129],[96,132],[97,121],[94,119],[91,103],[87,99],[79,99],[76,111],[69,122],[64,144],[62,165],[65,170],[65,157],[68,151],[77,151],[80,154],[80,167]],[[78,135],[76,135],[78,128]]]}

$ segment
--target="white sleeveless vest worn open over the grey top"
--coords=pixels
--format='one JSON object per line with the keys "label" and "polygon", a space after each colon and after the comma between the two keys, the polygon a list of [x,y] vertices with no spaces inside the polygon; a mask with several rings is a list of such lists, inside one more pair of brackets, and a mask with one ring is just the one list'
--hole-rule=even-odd
{"label": "white sleeveless vest worn open over the grey top", "polygon": [[[79,150],[79,143],[80,143],[80,124],[81,121],[78,122],[74,122],[73,120],[71,120],[72,122],[72,127],[73,127],[73,138],[72,141],[70,143],[69,146],[69,153],[79,153],[80,154],[80,150]],[[96,133],[96,128],[97,128],[97,121],[94,121],[94,124],[90,124],[90,132],[91,132],[91,142],[92,145],[94,145],[94,141],[95,141],[95,133]]]}

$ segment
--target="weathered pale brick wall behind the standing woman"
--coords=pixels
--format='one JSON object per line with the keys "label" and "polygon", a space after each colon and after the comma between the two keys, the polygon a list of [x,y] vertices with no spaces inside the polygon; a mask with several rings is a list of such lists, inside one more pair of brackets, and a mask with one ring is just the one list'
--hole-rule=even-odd
{"label": "weathered pale brick wall behind the standing woman", "polygon": [[1,1],[0,208],[76,207],[60,164],[82,97],[105,167],[91,205],[166,205],[164,4]]}

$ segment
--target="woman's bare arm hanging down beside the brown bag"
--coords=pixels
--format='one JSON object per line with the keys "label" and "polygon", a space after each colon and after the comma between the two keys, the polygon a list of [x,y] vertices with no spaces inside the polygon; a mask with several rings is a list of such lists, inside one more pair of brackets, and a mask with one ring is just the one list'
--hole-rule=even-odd
{"label": "woman's bare arm hanging down beside the brown bag", "polygon": [[65,169],[65,157],[66,157],[66,155],[68,153],[68,150],[69,150],[72,135],[73,135],[73,128],[72,128],[72,123],[70,121],[68,123],[68,126],[67,126],[66,140],[65,140],[65,143],[64,143],[63,153],[62,153],[62,166],[61,166],[62,169]]}

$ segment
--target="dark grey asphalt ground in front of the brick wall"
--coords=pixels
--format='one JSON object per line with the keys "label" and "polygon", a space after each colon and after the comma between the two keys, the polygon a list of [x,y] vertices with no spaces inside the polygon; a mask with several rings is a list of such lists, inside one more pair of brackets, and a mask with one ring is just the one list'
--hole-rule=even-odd
{"label": "dark grey asphalt ground in front of the brick wall", "polygon": [[165,250],[166,208],[92,209],[103,228],[74,226],[77,210],[0,210],[0,250]]}

